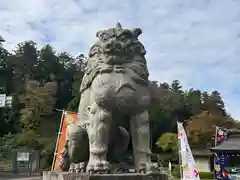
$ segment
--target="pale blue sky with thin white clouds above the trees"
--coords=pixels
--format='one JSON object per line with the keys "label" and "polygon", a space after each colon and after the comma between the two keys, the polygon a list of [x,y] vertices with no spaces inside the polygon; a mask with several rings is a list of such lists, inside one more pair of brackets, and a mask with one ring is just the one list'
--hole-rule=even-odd
{"label": "pale blue sky with thin white clouds above the trees", "polygon": [[0,34],[8,50],[23,40],[85,53],[96,31],[140,27],[151,80],[218,90],[240,120],[240,0],[0,1]]}

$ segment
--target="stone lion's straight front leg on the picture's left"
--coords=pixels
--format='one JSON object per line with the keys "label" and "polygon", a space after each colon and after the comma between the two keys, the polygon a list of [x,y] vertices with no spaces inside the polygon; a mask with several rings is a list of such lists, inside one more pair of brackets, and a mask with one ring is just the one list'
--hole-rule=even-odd
{"label": "stone lion's straight front leg on the picture's left", "polygon": [[87,171],[109,171],[107,153],[112,113],[94,103],[90,107],[89,121],[88,137],[90,156]]}

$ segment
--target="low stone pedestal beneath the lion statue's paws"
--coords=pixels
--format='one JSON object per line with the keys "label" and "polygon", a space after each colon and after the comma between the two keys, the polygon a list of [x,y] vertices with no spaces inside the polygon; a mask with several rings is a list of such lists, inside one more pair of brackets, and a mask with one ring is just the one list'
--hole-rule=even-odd
{"label": "low stone pedestal beneath the lion statue's paws", "polygon": [[69,173],[69,172],[43,172],[43,180],[168,180],[166,174],[95,174]]}

